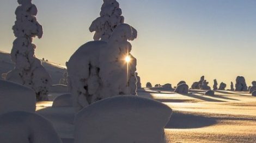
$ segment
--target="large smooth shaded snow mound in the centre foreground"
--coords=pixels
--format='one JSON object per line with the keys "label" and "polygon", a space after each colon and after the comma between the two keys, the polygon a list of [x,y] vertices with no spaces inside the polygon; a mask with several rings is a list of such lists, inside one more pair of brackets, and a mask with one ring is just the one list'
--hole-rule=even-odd
{"label": "large smooth shaded snow mound in the centre foreground", "polygon": [[75,143],[163,143],[172,109],[138,96],[115,96],[93,103],[75,118]]}

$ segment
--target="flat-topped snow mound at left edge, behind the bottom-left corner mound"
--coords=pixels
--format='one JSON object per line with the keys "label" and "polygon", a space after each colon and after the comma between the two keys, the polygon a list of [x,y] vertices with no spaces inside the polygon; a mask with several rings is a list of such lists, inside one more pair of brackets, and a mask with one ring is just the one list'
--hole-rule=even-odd
{"label": "flat-topped snow mound at left edge, behind the bottom-left corner mound", "polygon": [[35,112],[35,92],[31,88],[0,80],[0,114],[13,111]]}

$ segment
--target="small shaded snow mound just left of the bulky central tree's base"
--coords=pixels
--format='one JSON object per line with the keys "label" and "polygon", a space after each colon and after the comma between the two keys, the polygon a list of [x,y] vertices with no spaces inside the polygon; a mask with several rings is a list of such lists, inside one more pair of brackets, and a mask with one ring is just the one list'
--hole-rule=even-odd
{"label": "small shaded snow mound just left of the bulky central tree's base", "polygon": [[63,94],[53,100],[52,107],[71,107],[73,106],[72,95]]}

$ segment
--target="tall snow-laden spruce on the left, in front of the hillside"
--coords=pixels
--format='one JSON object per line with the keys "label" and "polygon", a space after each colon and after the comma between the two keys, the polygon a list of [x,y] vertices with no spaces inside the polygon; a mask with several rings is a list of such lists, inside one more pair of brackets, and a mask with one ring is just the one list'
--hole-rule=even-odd
{"label": "tall snow-laden spruce on the left, in front of the hillside", "polygon": [[36,21],[38,10],[31,0],[18,0],[16,21],[13,26],[17,37],[11,49],[11,59],[15,69],[7,74],[6,80],[14,81],[34,89],[37,100],[48,100],[47,94],[51,86],[51,77],[42,67],[41,61],[35,57],[33,38],[42,37],[42,26]]}

